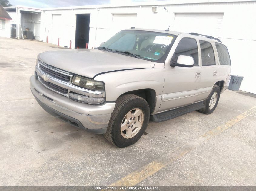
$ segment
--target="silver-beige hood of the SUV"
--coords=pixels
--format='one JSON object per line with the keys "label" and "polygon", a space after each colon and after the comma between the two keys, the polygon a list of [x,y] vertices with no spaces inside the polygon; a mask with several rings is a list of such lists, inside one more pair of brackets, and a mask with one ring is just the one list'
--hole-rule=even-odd
{"label": "silver-beige hood of the SUV", "polygon": [[65,49],[40,53],[38,59],[56,68],[94,78],[116,70],[153,68],[155,62],[98,49]]}

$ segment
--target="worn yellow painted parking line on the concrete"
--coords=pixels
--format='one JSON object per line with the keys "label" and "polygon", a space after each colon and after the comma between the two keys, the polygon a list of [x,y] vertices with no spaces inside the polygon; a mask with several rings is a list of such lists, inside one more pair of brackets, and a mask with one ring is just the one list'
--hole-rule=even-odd
{"label": "worn yellow painted parking line on the concrete", "polygon": [[227,121],[226,123],[208,131],[207,133],[205,133],[201,137],[198,137],[197,139],[193,140],[187,145],[184,145],[183,147],[178,148],[176,151],[170,152],[164,157],[157,159],[155,161],[152,161],[151,163],[141,167],[140,169],[128,174],[126,177],[118,180],[117,182],[111,184],[110,186],[134,186],[140,183],[142,180],[156,173],[158,170],[164,168],[166,165],[172,163],[178,158],[181,158],[182,156],[184,156],[185,154],[187,154],[188,152],[190,152],[191,150],[193,150],[203,142],[208,141],[213,136],[218,135],[219,133],[233,126],[235,123],[244,119],[246,116],[250,115],[251,113],[254,113],[255,111],[256,111],[256,106],[234,117],[233,119]]}

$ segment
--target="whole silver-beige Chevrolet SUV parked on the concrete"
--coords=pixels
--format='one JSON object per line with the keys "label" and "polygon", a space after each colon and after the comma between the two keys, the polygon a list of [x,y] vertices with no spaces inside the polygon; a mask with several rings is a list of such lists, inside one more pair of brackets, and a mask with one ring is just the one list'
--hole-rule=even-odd
{"label": "whole silver-beige Chevrolet SUV parked on the concrete", "polygon": [[39,54],[30,87],[48,113],[126,147],[149,120],[212,113],[230,65],[227,47],[212,36],[133,28],[95,49]]}

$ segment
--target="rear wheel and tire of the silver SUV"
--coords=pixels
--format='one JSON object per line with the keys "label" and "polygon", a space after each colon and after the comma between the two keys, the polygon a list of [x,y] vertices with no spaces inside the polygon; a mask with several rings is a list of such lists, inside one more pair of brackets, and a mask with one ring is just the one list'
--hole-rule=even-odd
{"label": "rear wheel and tire of the silver SUV", "polygon": [[211,90],[211,93],[206,98],[206,100],[204,100],[205,107],[198,111],[204,114],[211,114],[212,112],[214,112],[220,99],[220,92],[221,92],[220,87],[217,85],[214,85]]}

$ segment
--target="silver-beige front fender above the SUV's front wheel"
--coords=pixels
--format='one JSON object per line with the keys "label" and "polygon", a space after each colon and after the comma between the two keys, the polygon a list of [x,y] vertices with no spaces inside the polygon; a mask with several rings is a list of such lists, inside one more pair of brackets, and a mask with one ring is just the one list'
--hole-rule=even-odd
{"label": "silver-beige front fender above the SUV's front wheel", "polygon": [[94,79],[104,81],[106,101],[115,101],[122,94],[139,89],[153,89],[158,97],[163,91],[165,68],[163,63],[155,63],[154,68],[110,72]]}

